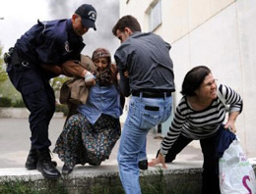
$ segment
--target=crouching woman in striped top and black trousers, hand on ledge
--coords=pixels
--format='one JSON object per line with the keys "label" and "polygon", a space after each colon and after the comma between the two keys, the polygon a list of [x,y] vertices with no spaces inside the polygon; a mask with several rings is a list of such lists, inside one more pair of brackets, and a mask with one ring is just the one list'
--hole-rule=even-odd
{"label": "crouching woman in striped top and black trousers, hand on ledge", "polygon": [[[218,98],[220,92],[229,107],[225,124],[225,106]],[[216,141],[222,128],[236,131],[234,121],[242,111],[242,99],[233,89],[223,84],[217,85],[211,71],[199,66],[189,71],[183,80],[181,98],[169,131],[161,142],[157,159],[149,166],[172,162],[176,155],[191,141],[200,140],[204,165],[202,193],[220,192],[218,159],[215,157]]]}

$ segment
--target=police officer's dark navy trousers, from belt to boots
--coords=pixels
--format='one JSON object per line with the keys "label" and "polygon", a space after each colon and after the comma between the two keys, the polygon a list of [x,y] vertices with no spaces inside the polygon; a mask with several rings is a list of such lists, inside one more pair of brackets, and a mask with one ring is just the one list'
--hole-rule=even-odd
{"label": "police officer's dark navy trousers, from belt to boots", "polygon": [[48,79],[33,67],[35,65],[11,63],[8,65],[7,73],[31,112],[29,121],[32,148],[43,150],[51,145],[48,139],[48,125],[55,111],[55,95]]}

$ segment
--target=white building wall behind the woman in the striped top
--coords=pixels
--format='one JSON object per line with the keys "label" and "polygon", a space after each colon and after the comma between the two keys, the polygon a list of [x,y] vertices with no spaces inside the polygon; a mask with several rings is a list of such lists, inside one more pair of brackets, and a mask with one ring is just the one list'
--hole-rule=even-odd
{"label": "white building wall behind the woman in the striped top", "polygon": [[[148,31],[150,5],[155,0],[120,0],[120,17],[135,16]],[[237,134],[247,152],[256,157],[256,1],[255,0],[161,0],[162,24],[154,32],[172,46],[176,93],[185,73],[208,66],[216,78],[244,100],[236,121]]]}

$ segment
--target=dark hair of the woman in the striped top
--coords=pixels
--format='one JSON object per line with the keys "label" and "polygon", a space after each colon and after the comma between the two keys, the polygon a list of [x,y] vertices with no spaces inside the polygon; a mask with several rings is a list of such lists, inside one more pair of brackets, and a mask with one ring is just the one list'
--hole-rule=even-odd
{"label": "dark hair of the woman in the striped top", "polygon": [[200,87],[209,73],[211,73],[211,70],[206,66],[197,66],[193,68],[191,71],[186,73],[180,93],[183,96],[195,96],[195,90]]}

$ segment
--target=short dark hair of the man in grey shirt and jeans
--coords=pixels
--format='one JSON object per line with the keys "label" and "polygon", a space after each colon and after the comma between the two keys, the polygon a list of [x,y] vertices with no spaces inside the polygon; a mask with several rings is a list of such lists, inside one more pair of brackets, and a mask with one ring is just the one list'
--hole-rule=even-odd
{"label": "short dark hair of the man in grey shirt and jeans", "polygon": [[133,32],[142,31],[141,25],[139,24],[137,19],[131,15],[127,15],[119,19],[117,24],[113,26],[112,33],[116,36],[116,30],[119,29],[123,32],[125,27],[129,27]]}

